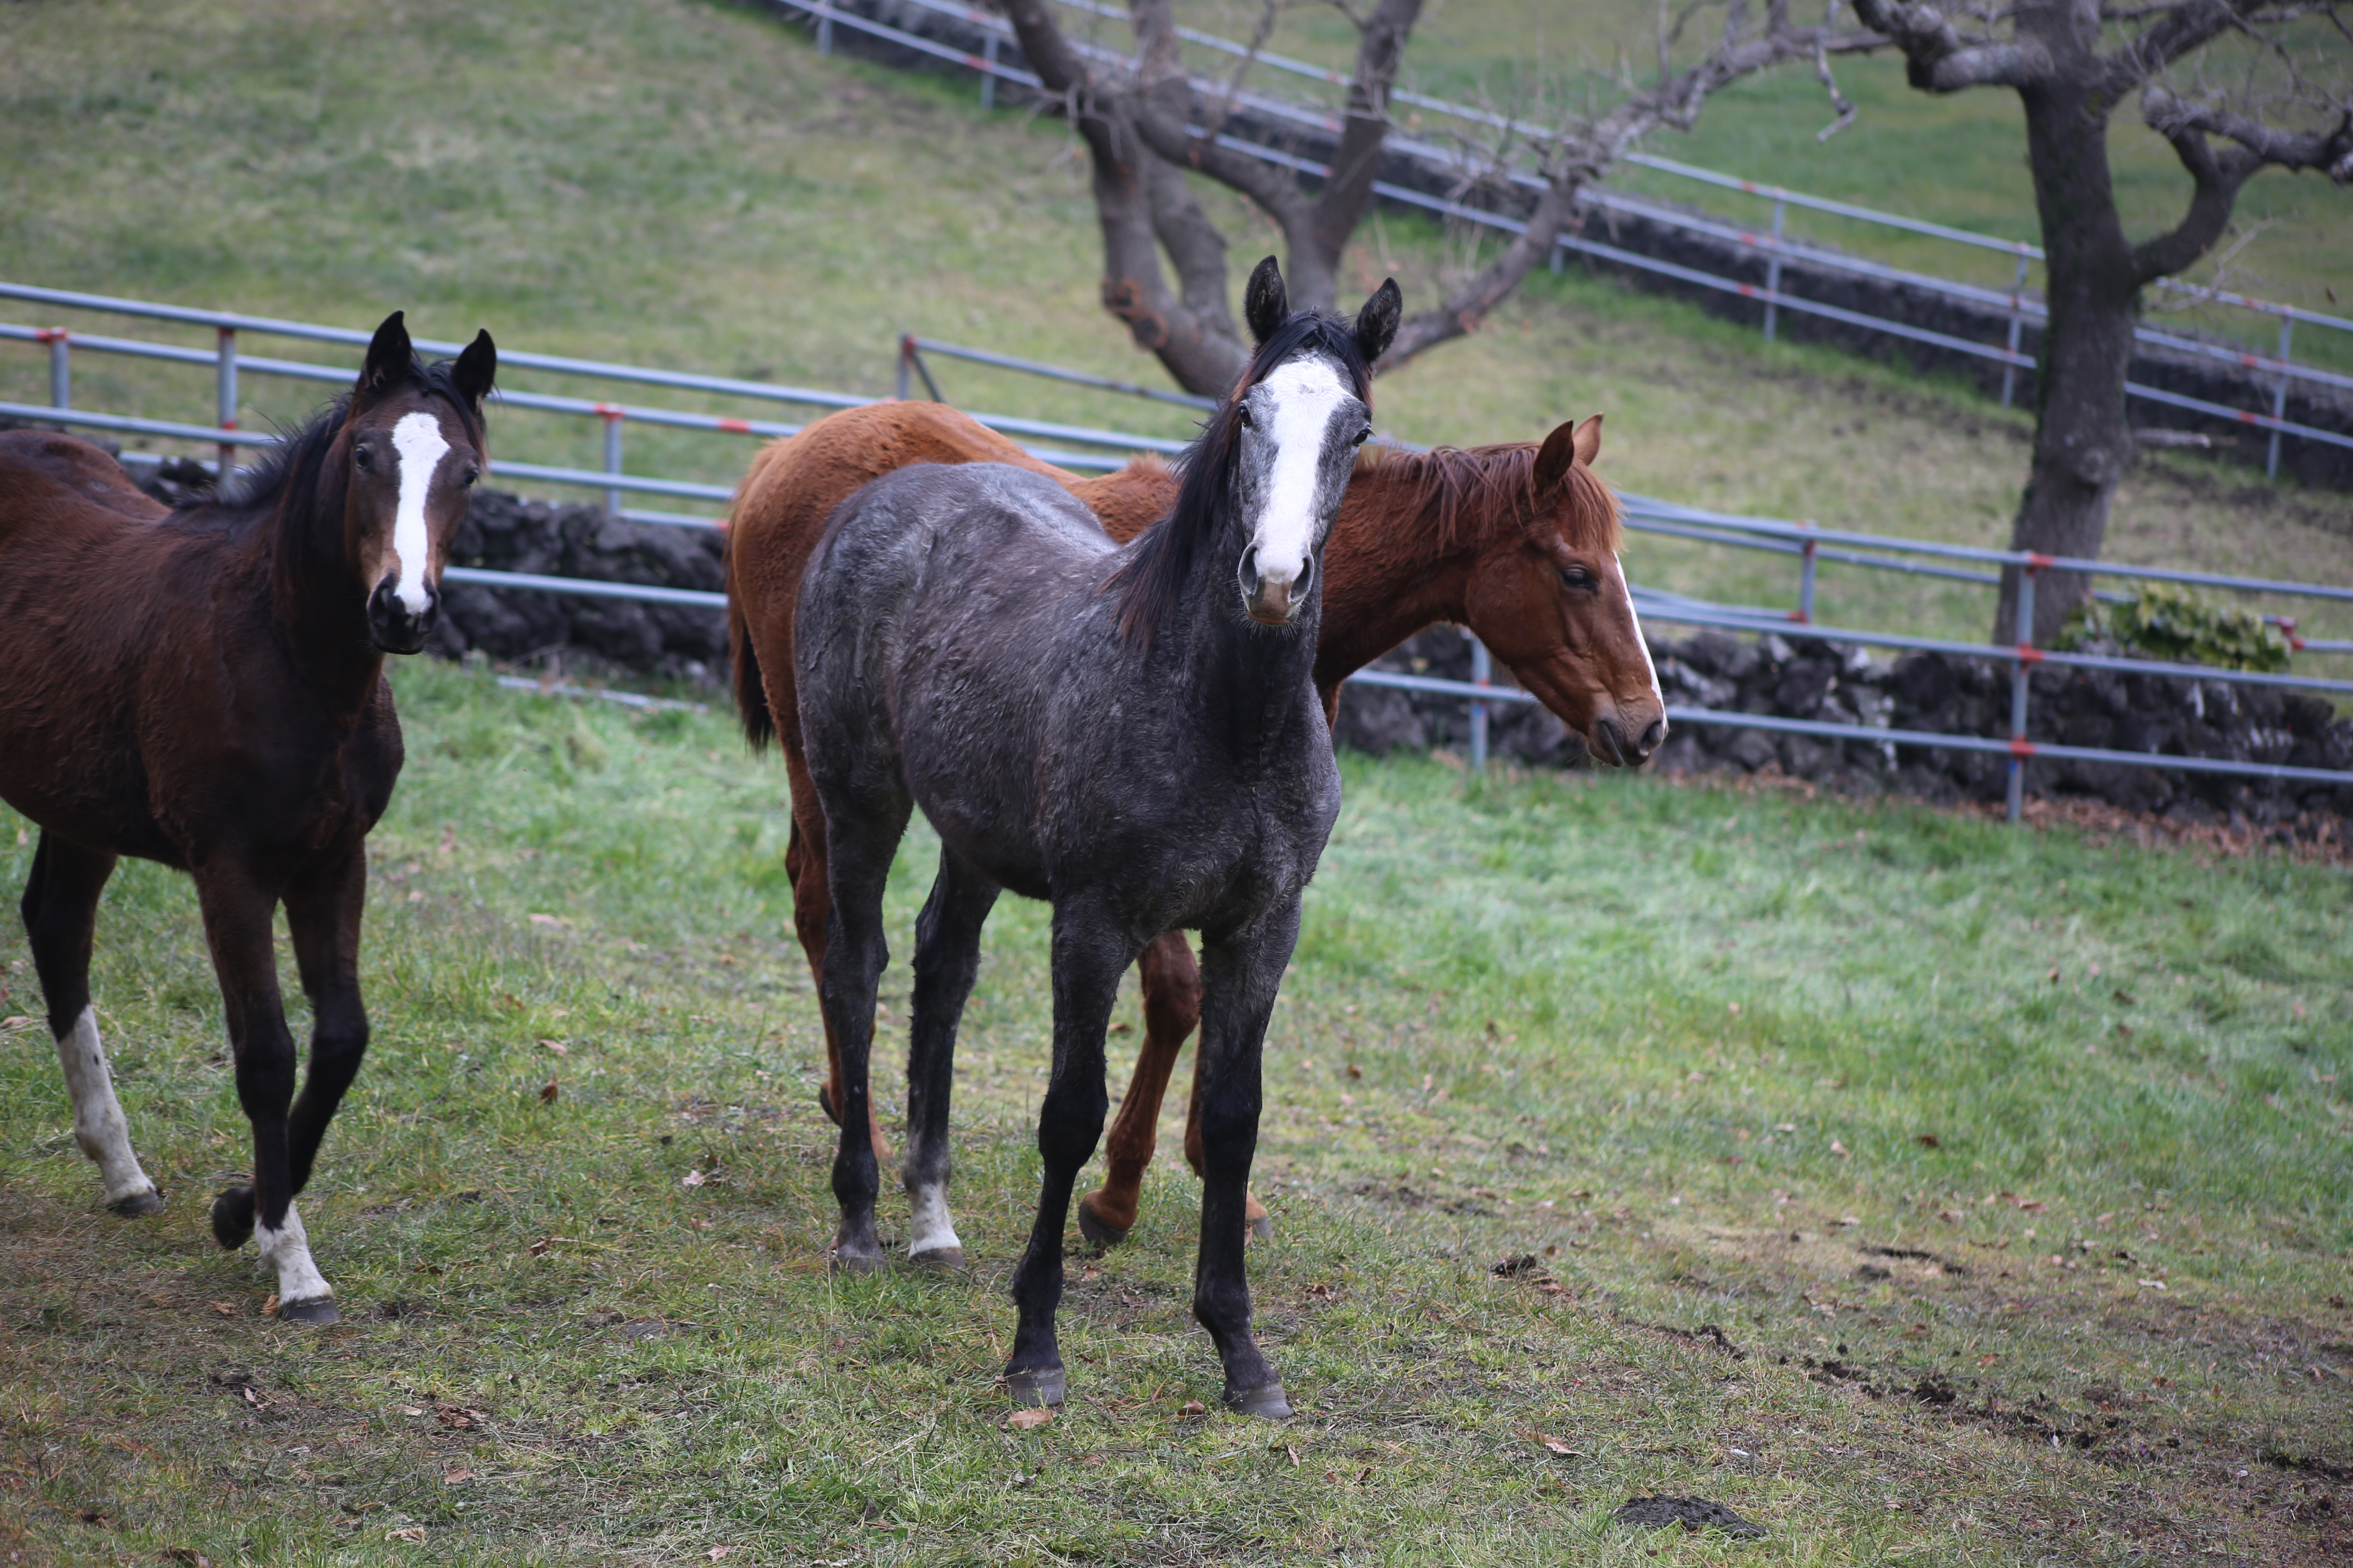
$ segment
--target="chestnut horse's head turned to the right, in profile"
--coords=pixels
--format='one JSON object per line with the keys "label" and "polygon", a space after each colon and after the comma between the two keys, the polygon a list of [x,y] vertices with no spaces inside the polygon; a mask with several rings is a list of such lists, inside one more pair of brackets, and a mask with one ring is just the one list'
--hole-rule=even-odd
{"label": "chestnut horse's head turned to the right, in profile", "polygon": [[1598,762],[1631,766],[1666,741],[1666,698],[1619,564],[1617,498],[1593,473],[1600,447],[1600,414],[1544,440],[1518,536],[1471,567],[1464,611]]}

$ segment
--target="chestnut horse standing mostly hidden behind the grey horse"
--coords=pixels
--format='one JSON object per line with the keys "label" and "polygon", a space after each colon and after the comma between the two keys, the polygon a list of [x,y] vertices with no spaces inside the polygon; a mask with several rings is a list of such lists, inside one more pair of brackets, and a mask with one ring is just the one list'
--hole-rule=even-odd
{"label": "chestnut horse standing mostly hidden behind the grey horse", "polygon": [[[1355,670],[1414,632],[1468,625],[1520,684],[1607,764],[1638,764],[1666,738],[1666,703],[1619,567],[1619,510],[1593,473],[1600,414],[1560,425],[1541,444],[1428,454],[1367,447],[1325,545],[1315,686],[1325,715]],[[1160,461],[1082,480],[1021,451],[936,402],[880,402],[831,414],[753,458],[736,491],[727,548],[727,635],[736,708],[753,748],[781,738],[793,792],[786,870],[793,926],[812,973],[824,976],[826,818],[802,759],[793,686],[793,607],[802,569],[833,508],[854,489],[911,463],[1009,463],[1085,501],[1115,541],[1167,515],[1176,477]],[[1200,1023],[1200,969],[1184,936],[1144,950],[1144,1044],[1108,1138],[1104,1185],[1080,1199],[1092,1241],[1120,1241],[1160,1124],[1176,1051]],[[840,1107],[840,1053],[828,1027],[826,1114]],[[1198,1081],[1191,1110],[1198,1112]],[[873,1114],[868,1105],[868,1117]],[[873,1131],[873,1128],[871,1128]],[[878,1157],[889,1145],[873,1131]],[[1186,1159],[1202,1166],[1198,1114]],[[1266,1211],[1249,1199],[1249,1222]]]}

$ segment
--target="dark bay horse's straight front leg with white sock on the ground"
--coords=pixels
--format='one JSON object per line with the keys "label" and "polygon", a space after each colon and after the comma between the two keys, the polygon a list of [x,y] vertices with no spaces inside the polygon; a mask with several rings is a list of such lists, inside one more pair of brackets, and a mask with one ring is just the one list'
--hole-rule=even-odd
{"label": "dark bay horse's straight front leg with white sock on the ground", "polygon": [[212,1237],[238,1248],[245,1237],[278,1272],[278,1316],[332,1324],[334,1288],[311,1260],[311,1239],[294,1211],[294,1168],[287,1152],[287,1112],[294,1105],[294,1037],[278,994],[271,950],[273,889],[240,863],[195,867],[195,900],[205,914],[212,971],[221,980],[228,1044],[238,1060],[238,1105],[254,1128],[254,1182],[228,1187],[212,1201]]}

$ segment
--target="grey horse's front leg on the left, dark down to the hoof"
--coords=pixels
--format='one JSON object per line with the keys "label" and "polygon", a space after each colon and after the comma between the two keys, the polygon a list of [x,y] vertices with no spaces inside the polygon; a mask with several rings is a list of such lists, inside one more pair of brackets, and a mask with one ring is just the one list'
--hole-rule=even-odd
{"label": "grey horse's front leg on the left, dark down to the hoof", "polygon": [[1059,1406],[1066,1380],[1054,1309],[1061,1305],[1061,1229],[1071,1220],[1071,1190],[1104,1138],[1104,1030],[1120,994],[1120,973],[1136,959],[1108,912],[1078,898],[1054,905],[1054,1074],[1038,1107],[1038,1220],[1014,1265],[1014,1354],[1005,1387],[1014,1403]]}

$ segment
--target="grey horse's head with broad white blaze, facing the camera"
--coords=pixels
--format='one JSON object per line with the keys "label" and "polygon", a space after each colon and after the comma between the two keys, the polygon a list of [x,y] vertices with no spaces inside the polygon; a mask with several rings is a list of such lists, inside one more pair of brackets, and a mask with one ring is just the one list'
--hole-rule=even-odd
{"label": "grey horse's head with broad white blaze, facing the camera", "polygon": [[1242,315],[1259,350],[1212,425],[1228,423],[1247,538],[1235,581],[1245,614],[1261,625],[1292,625],[1313,588],[1355,449],[1372,435],[1369,364],[1398,334],[1398,310],[1395,280],[1348,324],[1315,310],[1294,315],[1273,256],[1249,275]]}

